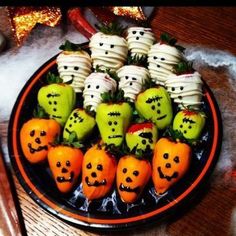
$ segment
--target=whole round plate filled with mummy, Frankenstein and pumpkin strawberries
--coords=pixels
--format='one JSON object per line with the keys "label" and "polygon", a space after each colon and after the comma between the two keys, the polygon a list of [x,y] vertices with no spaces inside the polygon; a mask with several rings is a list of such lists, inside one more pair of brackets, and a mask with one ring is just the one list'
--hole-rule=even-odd
{"label": "whole round plate filled with mummy, Frankenstein and pumpkin strawberries", "polygon": [[124,229],[183,212],[219,156],[216,100],[168,33],[100,25],[22,88],[9,123],[30,197],[76,225]]}

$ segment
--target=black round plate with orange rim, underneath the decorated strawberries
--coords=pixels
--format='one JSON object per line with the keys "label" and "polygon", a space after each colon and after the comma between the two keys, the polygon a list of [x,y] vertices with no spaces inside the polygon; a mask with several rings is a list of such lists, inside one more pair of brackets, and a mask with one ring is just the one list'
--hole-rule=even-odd
{"label": "black round plate with orange rim, underneath the decorated strawberries", "polygon": [[206,83],[203,109],[207,114],[207,122],[201,138],[204,145],[194,148],[188,174],[163,196],[156,196],[150,181],[142,197],[134,204],[123,203],[115,187],[106,198],[89,203],[82,194],[81,184],[69,194],[61,194],[48,164],[30,164],[21,150],[20,129],[24,122],[32,118],[38,90],[45,84],[49,71],[57,73],[56,56],[41,66],[21,90],[12,110],[8,130],[11,164],[21,185],[37,204],[70,224],[90,229],[127,229],[160,222],[193,204],[192,200],[212,173],[221,147],[220,112]]}

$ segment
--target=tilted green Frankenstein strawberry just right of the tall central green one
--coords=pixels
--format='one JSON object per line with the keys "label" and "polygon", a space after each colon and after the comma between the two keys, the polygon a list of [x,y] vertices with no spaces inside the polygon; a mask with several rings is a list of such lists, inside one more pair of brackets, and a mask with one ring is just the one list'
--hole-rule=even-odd
{"label": "tilted green Frankenstein strawberry just right of the tall central green one", "polygon": [[158,129],[165,129],[172,121],[171,99],[166,89],[161,86],[140,93],[135,107],[141,116],[151,120]]}

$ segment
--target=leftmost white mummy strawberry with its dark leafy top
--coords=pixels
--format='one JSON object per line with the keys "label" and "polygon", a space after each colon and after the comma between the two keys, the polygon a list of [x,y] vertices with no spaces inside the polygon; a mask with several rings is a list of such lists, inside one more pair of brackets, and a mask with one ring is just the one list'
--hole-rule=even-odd
{"label": "leftmost white mummy strawberry with its dark leafy top", "polygon": [[70,83],[75,92],[82,92],[84,80],[91,73],[92,60],[89,54],[69,41],[60,49],[57,57],[58,72],[64,83]]}

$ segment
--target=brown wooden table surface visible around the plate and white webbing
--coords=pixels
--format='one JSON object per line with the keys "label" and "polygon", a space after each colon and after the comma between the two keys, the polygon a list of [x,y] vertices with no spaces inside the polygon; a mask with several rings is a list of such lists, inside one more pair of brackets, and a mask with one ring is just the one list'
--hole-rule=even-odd
{"label": "brown wooden table surface visible around the plate and white webbing", "polygon": [[[161,31],[167,31],[182,42],[236,54],[236,8],[234,7],[158,7],[153,14],[151,25],[158,35]],[[4,29],[4,24],[0,27],[6,35],[10,36],[9,28]],[[10,45],[12,47],[13,43]],[[222,111],[224,127],[235,124],[236,94],[227,79],[227,71],[224,68],[203,67],[200,73],[214,92]],[[228,111],[232,112],[231,116],[228,116]],[[8,121],[1,121],[0,133],[3,143],[6,143],[7,126]],[[236,153],[236,133],[235,130],[231,131],[232,135],[224,133],[223,143],[226,148],[221,152],[220,158],[224,158],[229,153]],[[227,145],[228,135],[231,138],[231,145]],[[235,158],[232,161],[235,168]],[[48,214],[25,193],[15,176],[14,180],[28,235],[97,234],[69,226]],[[137,231],[128,231],[127,235],[233,235],[233,232],[236,233],[235,227],[235,172],[215,170],[206,193],[181,217],[163,225],[157,224]]]}

